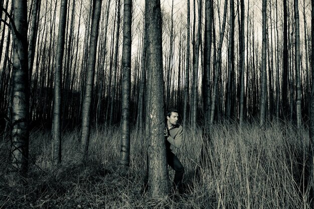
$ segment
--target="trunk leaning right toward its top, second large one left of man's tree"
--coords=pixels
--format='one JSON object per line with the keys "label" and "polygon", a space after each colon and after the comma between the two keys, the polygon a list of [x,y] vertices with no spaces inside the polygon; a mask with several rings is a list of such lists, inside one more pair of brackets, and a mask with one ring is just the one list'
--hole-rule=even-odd
{"label": "trunk leaning right toward its top, second large one left of man's tree", "polygon": [[89,135],[90,135],[90,109],[91,99],[93,97],[95,62],[97,52],[99,20],[101,12],[101,0],[93,0],[92,25],[89,44],[88,67],[86,89],[82,107],[82,131],[81,131],[81,148],[82,160],[86,160],[88,155]]}

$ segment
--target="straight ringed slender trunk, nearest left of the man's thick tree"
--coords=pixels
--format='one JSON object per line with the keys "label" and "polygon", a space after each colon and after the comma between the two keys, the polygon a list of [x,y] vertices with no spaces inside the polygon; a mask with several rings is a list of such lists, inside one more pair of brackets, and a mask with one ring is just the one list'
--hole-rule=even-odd
{"label": "straight ringed slender trunk, nearest left of the man's thick tree", "polygon": [[[122,110],[120,164],[130,164],[130,97],[131,97],[131,29],[132,0],[124,0],[122,49]],[[123,170],[123,169],[121,169]]]}

